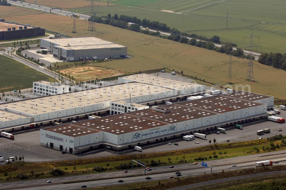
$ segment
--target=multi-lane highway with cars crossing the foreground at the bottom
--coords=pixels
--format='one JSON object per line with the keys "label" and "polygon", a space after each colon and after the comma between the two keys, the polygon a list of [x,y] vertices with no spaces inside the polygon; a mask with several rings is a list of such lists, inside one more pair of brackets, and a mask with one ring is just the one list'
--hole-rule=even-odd
{"label": "multi-lane highway with cars crossing the foreground at the bottom", "polygon": [[[218,159],[205,161],[209,166],[212,166],[212,173],[222,172],[224,171],[233,171],[237,169],[245,169],[255,167],[255,161],[263,161],[263,160],[277,160],[280,161],[278,164],[285,164],[285,154],[286,150],[283,151],[275,151],[270,153],[263,154],[255,154],[255,155],[247,155],[243,157],[237,158],[229,158],[229,159]],[[180,171],[182,173],[181,177],[188,177],[194,175],[202,175],[204,173],[210,173],[210,168],[204,168],[199,164],[193,165],[192,163],[182,163],[179,165],[174,165],[174,168],[169,168],[169,166],[158,166],[152,167],[152,171],[146,171],[146,175],[144,175],[144,169],[130,169],[128,173],[123,173],[122,171],[114,171],[114,172],[102,172],[102,173],[90,173],[86,175],[76,175],[76,176],[63,176],[63,177],[54,177],[54,178],[46,178],[46,179],[31,179],[31,180],[23,180],[23,181],[11,181],[0,184],[0,189],[53,189],[53,190],[62,190],[62,189],[77,189],[80,188],[81,185],[87,185],[88,187],[100,187],[106,185],[116,185],[122,184],[118,183],[119,179],[124,180],[124,183],[137,183],[142,181],[148,181],[145,179],[146,176],[151,177],[149,180],[159,180],[159,179],[169,179],[170,176],[176,177],[175,172]],[[232,167],[235,164],[237,167]],[[137,175],[137,176],[131,176]],[[114,178],[114,179],[108,179]],[[51,180],[52,183],[46,183],[47,180]],[[63,182],[68,181],[80,181],[80,180],[96,180],[96,181],[87,181],[87,182],[76,182],[76,183],[68,183],[63,184]],[[34,187],[36,185],[44,185],[39,187]]]}

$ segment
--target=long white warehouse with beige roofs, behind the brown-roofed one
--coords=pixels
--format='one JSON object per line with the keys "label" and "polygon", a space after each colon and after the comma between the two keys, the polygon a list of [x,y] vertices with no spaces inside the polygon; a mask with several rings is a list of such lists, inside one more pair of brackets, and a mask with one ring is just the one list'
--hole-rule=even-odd
{"label": "long white warehouse with beige roofs, behind the brown-roofed one", "polygon": [[[27,117],[29,119],[23,120],[22,118],[13,117],[4,120],[0,118],[2,120],[0,129],[13,131],[31,126],[43,127],[50,126],[53,122],[61,123],[87,118],[89,115],[106,114],[110,110],[110,102],[116,100],[144,103],[149,106],[205,93],[205,85],[202,84],[148,74],[138,74],[138,76],[154,77],[162,81],[163,84],[133,81],[3,103],[0,104],[1,110],[9,112],[11,115],[18,114],[23,116],[22,118]],[[165,82],[174,84],[166,86],[164,85]],[[180,84],[184,84],[184,87]],[[187,94],[184,90],[191,93]]]}

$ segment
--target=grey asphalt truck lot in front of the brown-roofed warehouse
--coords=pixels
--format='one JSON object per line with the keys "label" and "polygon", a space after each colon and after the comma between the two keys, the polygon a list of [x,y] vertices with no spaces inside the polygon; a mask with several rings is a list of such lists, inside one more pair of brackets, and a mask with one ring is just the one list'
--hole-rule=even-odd
{"label": "grey asphalt truck lot in front of the brown-roofed warehouse", "polygon": [[[281,111],[281,115],[277,115],[279,117],[286,117],[286,112]],[[256,131],[270,128],[271,132],[263,135],[257,135]],[[277,134],[286,135],[286,124],[276,123],[272,121],[259,121],[256,123],[249,123],[243,125],[243,130],[239,130],[231,126],[226,128],[226,133],[223,134],[208,134],[206,139],[196,138],[193,141],[182,140],[181,138],[170,139],[162,142],[158,142],[156,144],[151,145],[142,145],[143,153],[148,152],[161,152],[161,151],[170,151],[176,149],[185,149],[192,148],[198,146],[209,145],[208,140],[212,140],[216,138],[217,143],[227,143],[227,139],[230,139],[230,142],[241,142],[247,140],[255,140],[259,137],[267,138],[270,136],[274,136]],[[282,131],[278,131],[282,129]],[[73,154],[61,154],[61,151],[50,149],[44,146],[39,145],[39,134],[40,131],[31,131],[31,132],[22,132],[15,134],[15,140],[10,140],[7,138],[0,138],[0,155],[5,159],[7,157],[13,157],[15,155],[22,156],[26,161],[48,161],[50,159],[75,159],[82,156],[108,156],[108,155],[116,155],[116,151],[106,151],[104,149],[97,150],[94,153],[85,154],[85,155],[73,155]],[[171,142],[172,145],[168,145],[168,142]],[[195,142],[199,142],[196,144]],[[174,143],[178,143],[174,145]],[[120,153],[120,152],[119,152]],[[138,153],[132,149],[124,150],[124,153]],[[121,152],[122,154],[122,152]],[[1,163],[0,163],[1,164]],[[3,164],[3,163],[2,163]]]}

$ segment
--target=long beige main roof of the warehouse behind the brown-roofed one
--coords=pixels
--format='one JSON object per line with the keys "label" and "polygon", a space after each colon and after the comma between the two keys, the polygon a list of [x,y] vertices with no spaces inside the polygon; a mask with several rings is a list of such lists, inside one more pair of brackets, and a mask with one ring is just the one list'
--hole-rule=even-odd
{"label": "long beige main roof of the warehouse behind the brown-roofed one", "polygon": [[129,98],[130,94],[133,98],[136,96],[156,94],[171,90],[174,89],[151,84],[130,82],[113,86],[103,86],[95,89],[87,89],[80,92],[69,92],[65,94],[56,94],[11,103],[4,103],[0,104],[0,107],[37,115],[69,108],[101,104],[104,102],[109,105],[110,101]]}

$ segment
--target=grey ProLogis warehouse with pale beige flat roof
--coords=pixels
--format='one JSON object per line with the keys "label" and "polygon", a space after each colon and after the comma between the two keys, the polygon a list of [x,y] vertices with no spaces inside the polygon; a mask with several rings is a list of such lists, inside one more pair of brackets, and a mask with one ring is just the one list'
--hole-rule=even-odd
{"label": "grey ProLogis warehouse with pale beige flat roof", "polygon": [[96,37],[41,39],[41,49],[49,49],[53,57],[65,61],[127,56],[127,47]]}

